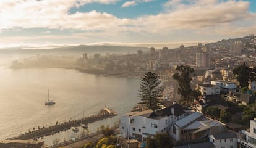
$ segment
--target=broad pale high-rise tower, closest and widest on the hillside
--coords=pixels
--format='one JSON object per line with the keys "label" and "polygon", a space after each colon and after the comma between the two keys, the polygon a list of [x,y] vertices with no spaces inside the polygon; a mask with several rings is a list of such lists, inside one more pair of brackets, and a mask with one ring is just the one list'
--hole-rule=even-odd
{"label": "broad pale high-rise tower, closest and widest on the hillside", "polygon": [[197,67],[210,67],[210,58],[207,52],[197,52],[195,57]]}

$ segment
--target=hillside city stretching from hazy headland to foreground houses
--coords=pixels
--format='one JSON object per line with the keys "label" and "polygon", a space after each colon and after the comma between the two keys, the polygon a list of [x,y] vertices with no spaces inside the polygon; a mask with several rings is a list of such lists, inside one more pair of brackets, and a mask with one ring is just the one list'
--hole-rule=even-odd
{"label": "hillside city stretching from hazy headland to foreground houses", "polygon": [[[164,89],[158,98],[161,109],[143,109],[137,105],[131,112],[121,115],[118,128],[103,129],[96,141],[74,139],[51,147],[75,147],[77,145],[72,144],[77,142],[79,147],[137,148],[152,144],[151,147],[236,148],[256,147],[255,57],[256,37],[248,35],[215,43],[198,43],[198,46],[181,44],[176,49],[138,49],[136,53],[126,55],[89,56],[85,53],[79,58],[37,55],[14,61],[11,68],[74,68],[106,77],[132,78],[153,72],[163,82]],[[188,75],[192,89],[188,99],[179,93],[181,85],[173,77],[181,71],[177,70],[181,65],[194,69],[194,73]],[[248,70],[247,74],[245,70]],[[241,83],[239,76],[247,78],[247,84]],[[108,132],[116,136],[110,136]],[[158,145],[153,145],[152,141]],[[32,144],[32,147],[43,147],[43,143]]]}

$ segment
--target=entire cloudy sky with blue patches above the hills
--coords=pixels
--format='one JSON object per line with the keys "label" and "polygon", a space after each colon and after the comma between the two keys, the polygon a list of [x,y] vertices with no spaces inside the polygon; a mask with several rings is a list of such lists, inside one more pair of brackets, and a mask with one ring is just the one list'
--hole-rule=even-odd
{"label": "entire cloudy sky with blue patches above the hills", "polygon": [[0,1],[0,47],[167,44],[250,33],[255,0]]}

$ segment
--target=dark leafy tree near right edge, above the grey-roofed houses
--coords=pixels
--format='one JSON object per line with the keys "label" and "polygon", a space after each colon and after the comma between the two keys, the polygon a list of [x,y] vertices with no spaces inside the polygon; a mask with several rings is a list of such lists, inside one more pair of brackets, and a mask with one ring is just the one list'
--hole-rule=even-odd
{"label": "dark leafy tree near right edge, above the grey-roofed houses", "polygon": [[248,82],[250,78],[251,69],[245,65],[240,65],[233,69],[233,75],[236,76],[236,80],[239,81],[239,85],[241,88],[248,87]]}

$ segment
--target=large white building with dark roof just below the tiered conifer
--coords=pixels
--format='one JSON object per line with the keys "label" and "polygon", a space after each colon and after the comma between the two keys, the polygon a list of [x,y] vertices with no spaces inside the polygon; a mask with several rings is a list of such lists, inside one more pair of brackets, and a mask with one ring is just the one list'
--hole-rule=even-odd
{"label": "large white building with dark roof just below the tiered conifer", "polygon": [[190,110],[174,104],[157,112],[145,110],[130,112],[121,116],[120,135],[145,141],[148,136],[157,133],[169,133],[171,125],[189,115]]}

